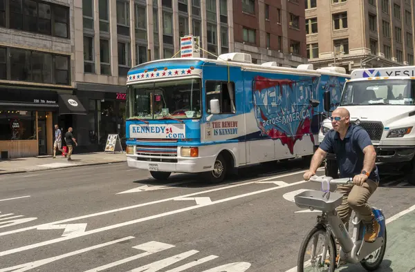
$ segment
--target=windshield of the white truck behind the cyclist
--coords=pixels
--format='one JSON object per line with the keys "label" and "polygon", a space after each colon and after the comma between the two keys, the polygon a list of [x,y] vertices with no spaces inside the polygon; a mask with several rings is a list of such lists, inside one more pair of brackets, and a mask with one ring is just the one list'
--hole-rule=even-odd
{"label": "windshield of the white truck behind the cyclist", "polygon": [[340,102],[340,106],[414,104],[415,81],[411,79],[349,81]]}

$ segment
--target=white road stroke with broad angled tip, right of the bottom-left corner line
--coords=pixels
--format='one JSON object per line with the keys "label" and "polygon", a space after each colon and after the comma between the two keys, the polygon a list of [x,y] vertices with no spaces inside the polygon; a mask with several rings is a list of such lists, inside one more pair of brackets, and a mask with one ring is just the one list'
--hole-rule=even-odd
{"label": "white road stroke with broad angled tip, right of the bottom-left corner line", "polygon": [[118,260],[116,262],[111,262],[110,264],[105,264],[105,265],[102,265],[102,266],[99,266],[99,267],[95,267],[95,269],[90,269],[90,270],[85,271],[85,272],[98,272],[98,271],[102,271],[102,270],[105,270],[105,269],[110,269],[111,267],[118,266],[120,264],[125,264],[126,262],[131,262],[133,260],[137,260],[137,259],[140,259],[142,257],[146,257],[148,255],[151,255],[153,253],[158,253],[160,251],[164,251],[166,249],[171,249],[172,247],[174,247],[174,245],[165,244],[165,243],[156,242],[156,241],[151,241],[151,242],[148,242],[148,243],[145,243],[145,244],[139,244],[138,246],[133,246],[133,249],[138,249],[138,250],[141,250],[141,251],[145,251],[144,253],[140,253],[138,255],[133,255],[129,258]]}

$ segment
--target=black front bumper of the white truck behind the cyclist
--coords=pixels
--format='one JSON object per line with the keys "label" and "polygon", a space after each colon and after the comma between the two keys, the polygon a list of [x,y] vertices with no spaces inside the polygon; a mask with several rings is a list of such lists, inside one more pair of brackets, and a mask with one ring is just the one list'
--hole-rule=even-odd
{"label": "black front bumper of the white truck behind the cyclist", "polygon": [[[375,146],[376,162],[409,162],[414,158],[415,146]],[[326,159],[335,159],[329,153]]]}

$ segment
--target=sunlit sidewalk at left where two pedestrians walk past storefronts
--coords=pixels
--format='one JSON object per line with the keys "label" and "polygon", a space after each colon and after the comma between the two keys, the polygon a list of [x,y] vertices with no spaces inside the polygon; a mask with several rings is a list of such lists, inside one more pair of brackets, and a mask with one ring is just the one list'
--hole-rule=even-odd
{"label": "sunlit sidewalk at left where two pedestrians walk past storefronts", "polygon": [[68,161],[59,153],[56,159],[53,159],[53,157],[24,157],[0,160],[0,175],[127,161],[125,152],[114,154],[104,152],[73,154],[71,157],[72,160]]}

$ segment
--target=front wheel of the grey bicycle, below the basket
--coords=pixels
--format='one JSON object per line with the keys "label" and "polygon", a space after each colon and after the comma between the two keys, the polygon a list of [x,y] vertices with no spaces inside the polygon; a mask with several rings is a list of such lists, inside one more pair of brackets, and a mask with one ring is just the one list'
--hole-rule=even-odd
{"label": "front wheel of the grey bicycle, below the basket", "polygon": [[333,235],[326,241],[326,235],[326,228],[318,224],[304,237],[299,249],[297,271],[334,272],[335,242]]}

